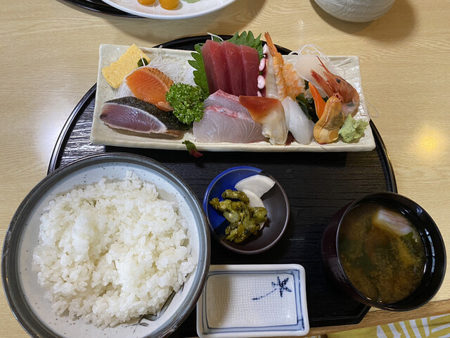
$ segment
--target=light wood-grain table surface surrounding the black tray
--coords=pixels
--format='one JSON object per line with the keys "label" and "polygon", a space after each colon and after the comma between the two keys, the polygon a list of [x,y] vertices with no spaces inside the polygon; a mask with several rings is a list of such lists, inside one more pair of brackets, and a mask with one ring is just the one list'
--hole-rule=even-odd
{"label": "light wood-grain table surface surrounding the black tray", "polygon": [[[397,0],[382,18],[347,23],[313,0],[237,0],[187,20],[120,18],[58,0],[4,1],[0,11],[0,239],[25,195],[46,175],[53,146],[79,99],[96,82],[98,46],[154,46],[179,37],[269,31],[296,50],[356,55],[373,121],[400,194],[432,215],[450,248],[450,2]],[[370,311],[359,325],[450,313],[450,277],[416,311]],[[27,337],[0,295],[0,337]]]}

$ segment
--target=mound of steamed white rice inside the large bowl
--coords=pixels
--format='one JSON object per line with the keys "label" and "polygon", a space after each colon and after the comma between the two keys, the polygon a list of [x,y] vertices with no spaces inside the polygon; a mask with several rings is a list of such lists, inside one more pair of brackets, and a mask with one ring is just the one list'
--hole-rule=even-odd
{"label": "mound of steamed white rice inside the large bowl", "polygon": [[33,252],[57,315],[113,326],[158,313],[195,269],[186,220],[128,171],[53,199]]}

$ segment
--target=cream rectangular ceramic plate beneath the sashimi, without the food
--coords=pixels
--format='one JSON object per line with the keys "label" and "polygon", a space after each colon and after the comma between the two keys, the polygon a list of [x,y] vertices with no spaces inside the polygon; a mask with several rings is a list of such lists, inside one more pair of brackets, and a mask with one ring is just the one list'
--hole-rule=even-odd
{"label": "cream rectangular ceramic plate beneath the sashimi, without the food", "polygon": [[[318,144],[313,141],[310,144],[299,144],[293,142],[288,145],[272,145],[269,142],[255,142],[248,144],[236,144],[229,142],[221,143],[202,143],[197,142],[193,133],[188,131],[183,139],[158,139],[136,134],[124,134],[117,132],[100,120],[101,109],[105,101],[115,99],[117,89],[110,87],[103,77],[102,68],[117,61],[118,58],[129,46],[118,46],[113,44],[102,44],[100,46],[100,58],[98,63],[96,102],[94,108],[94,119],[92,121],[91,142],[93,144],[104,144],[107,146],[126,146],[133,148],[150,148],[150,149],[171,149],[186,150],[186,146],[182,144],[184,140],[191,141],[197,146],[199,151],[260,151],[260,152],[278,152],[278,151],[371,151],[375,148],[375,140],[370,127],[366,128],[366,132],[361,139],[356,142],[345,143],[342,140],[331,144]],[[158,49],[143,48],[143,51],[150,57],[163,58],[165,62],[173,61],[174,64],[186,63],[192,59],[192,51],[182,51],[177,49]],[[330,61],[335,65],[340,65],[345,73],[345,80],[351,83],[359,92],[360,101],[359,110],[355,118],[364,118],[369,120],[368,110],[364,103],[364,94],[361,86],[361,74],[359,73],[359,58],[357,56],[329,56]],[[176,65],[174,66],[176,67]],[[188,69],[191,68],[188,65]],[[193,68],[191,68],[193,69]],[[189,70],[190,71],[190,70]],[[172,79],[175,80],[175,79]]]}

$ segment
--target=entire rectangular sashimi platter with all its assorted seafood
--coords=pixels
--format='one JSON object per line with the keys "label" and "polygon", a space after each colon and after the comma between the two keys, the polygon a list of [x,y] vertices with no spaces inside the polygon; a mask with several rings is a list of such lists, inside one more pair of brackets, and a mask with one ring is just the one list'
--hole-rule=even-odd
{"label": "entire rectangular sashimi platter with all its assorted seafood", "polygon": [[269,33],[195,51],[102,44],[91,142],[200,151],[371,151],[357,56],[282,55]]}

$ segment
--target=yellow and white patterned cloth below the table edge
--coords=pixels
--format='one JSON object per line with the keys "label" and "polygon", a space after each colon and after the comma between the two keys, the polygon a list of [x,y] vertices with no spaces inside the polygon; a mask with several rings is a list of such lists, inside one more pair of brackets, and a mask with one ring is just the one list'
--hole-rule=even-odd
{"label": "yellow and white patterned cloth below the table edge", "polygon": [[328,338],[450,338],[450,314],[329,333]]}

